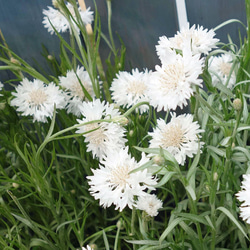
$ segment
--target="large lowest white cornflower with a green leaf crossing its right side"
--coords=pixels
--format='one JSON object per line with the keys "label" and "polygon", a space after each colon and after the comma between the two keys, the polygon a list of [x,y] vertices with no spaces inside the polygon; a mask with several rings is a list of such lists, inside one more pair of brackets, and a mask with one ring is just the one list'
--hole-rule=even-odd
{"label": "large lowest white cornflower with a green leaf crossing its right side", "polygon": [[154,190],[157,181],[147,169],[131,173],[149,159],[142,154],[137,162],[128,153],[128,147],[109,151],[101,161],[99,169],[93,169],[93,176],[88,176],[90,193],[104,208],[115,205],[122,211],[126,206],[135,206],[135,198],[146,195],[146,190]]}

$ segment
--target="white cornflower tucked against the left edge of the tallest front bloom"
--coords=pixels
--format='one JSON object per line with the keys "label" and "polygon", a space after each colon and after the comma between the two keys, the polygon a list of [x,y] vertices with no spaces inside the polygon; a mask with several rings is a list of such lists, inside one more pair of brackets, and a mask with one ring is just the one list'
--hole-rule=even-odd
{"label": "white cornflower tucked against the left edge of the tallest front bloom", "polygon": [[[132,74],[122,71],[119,72],[111,85],[113,100],[120,106],[132,107],[139,102],[148,102],[149,98],[146,93],[146,82],[149,81],[151,71],[147,69],[139,72],[133,69]],[[140,113],[146,112],[148,105],[139,107]]]}

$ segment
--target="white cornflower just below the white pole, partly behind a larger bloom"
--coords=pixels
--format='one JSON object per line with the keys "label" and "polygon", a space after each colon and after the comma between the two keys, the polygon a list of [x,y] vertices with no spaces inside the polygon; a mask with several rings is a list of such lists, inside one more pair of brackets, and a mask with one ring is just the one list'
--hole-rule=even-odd
{"label": "white cornflower just below the white pole, partly behind a larger bloom", "polygon": [[156,51],[161,60],[165,60],[166,51],[169,49],[184,50],[190,49],[192,54],[205,54],[216,48],[216,43],[219,39],[214,38],[215,32],[211,29],[204,29],[203,26],[193,25],[181,28],[174,37],[167,38],[162,36],[159,38],[159,45],[156,45]]}

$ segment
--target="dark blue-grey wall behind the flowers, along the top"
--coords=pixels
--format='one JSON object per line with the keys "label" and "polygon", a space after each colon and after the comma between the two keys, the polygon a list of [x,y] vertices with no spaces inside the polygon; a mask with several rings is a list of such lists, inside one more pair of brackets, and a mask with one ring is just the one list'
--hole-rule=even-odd
{"label": "dark blue-grey wall behind the flowers, along the top", "polygon": [[[92,0],[86,6],[94,10]],[[101,17],[102,32],[107,32],[106,1],[96,0]],[[59,54],[59,39],[50,35],[42,24],[43,9],[52,6],[51,0],[8,0],[0,1],[0,29],[10,49],[32,66],[42,66],[49,70],[42,55],[44,45],[50,54]],[[187,18],[193,24],[204,28],[214,28],[228,19],[239,19],[246,24],[244,0],[186,0]],[[112,28],[116,43],[119,34],[126,46],[126,70],[131,68],[154,69],[159,60],[155,45],[160,36],[174,36],[178,30],[175,0],[112,0]],[[239,23],[229,24],[216,32],[216,37],[227,43],[230,34],[239,45],[239,31],[245,35]],[[63,34],[68,39],[68,34]],[[101,55],[108,54],[102,41]],[[5,82],[13,76],[8,71],[0,71],[0,81]]]}

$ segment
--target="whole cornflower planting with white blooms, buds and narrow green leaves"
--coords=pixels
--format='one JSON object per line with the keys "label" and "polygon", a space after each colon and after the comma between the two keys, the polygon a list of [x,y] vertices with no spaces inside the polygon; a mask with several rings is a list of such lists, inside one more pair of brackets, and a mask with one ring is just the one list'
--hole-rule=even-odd
{"label": "whole cornflower planting with white blooms, buds and narrow green leaves", "polygon": [[128,72],[107,7],[109,37],[84,1],[44,10],[53,75],[1,45],[2,249],[247,249],[249,29],[238,47],[187,24]]}

